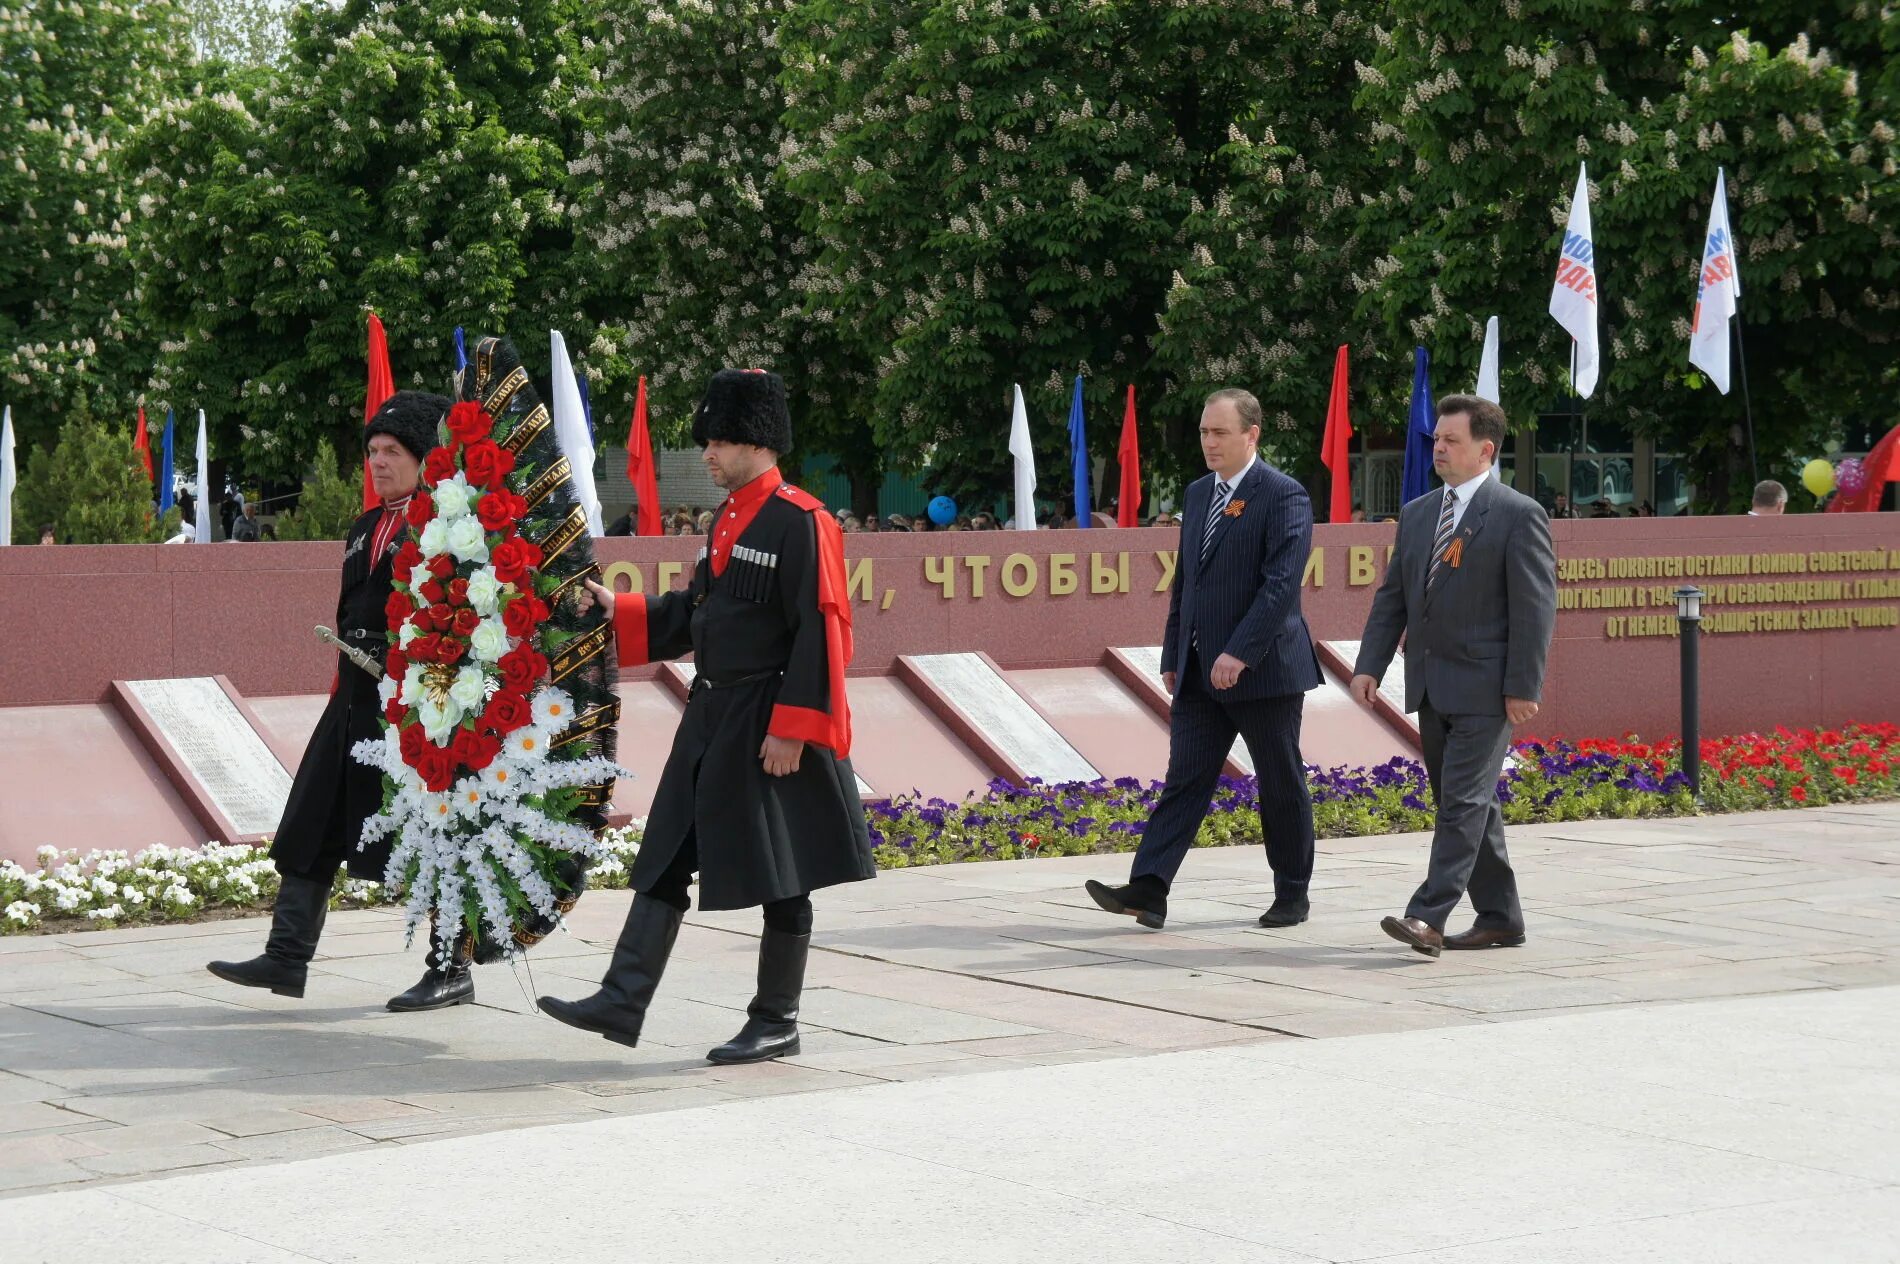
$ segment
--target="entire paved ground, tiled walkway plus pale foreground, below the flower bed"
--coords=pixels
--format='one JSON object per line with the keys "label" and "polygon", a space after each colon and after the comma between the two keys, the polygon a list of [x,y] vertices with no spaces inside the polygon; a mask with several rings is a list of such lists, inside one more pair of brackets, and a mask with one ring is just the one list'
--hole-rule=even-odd
{"label": "entire paved ground, tiled walkway plus pale foreground, below the flower bed", "polygon": [[0,939],[8,1235],[418,1258],[428,1188],[498,1230],[471,1260],[564,1254],[504,1228],[540,1215],[564,1258],[1900,1258],[1900,806],[1510,846],[1531,943],[1436,962],[1378,929],[1419,834],[1322,842],[1294,931],[1256,850],[1189,857],[1161,933],[1081,893],[1125,857],[885,872],[817,901],[806,1051],[749,1068],[701,1055],[756,914],[690,918],[635,1051],[524,994],[591,988],[621,891],[429,1015],[382,1009],[420,969],[384,910],[304,1002],[203,973],[260,918]]}

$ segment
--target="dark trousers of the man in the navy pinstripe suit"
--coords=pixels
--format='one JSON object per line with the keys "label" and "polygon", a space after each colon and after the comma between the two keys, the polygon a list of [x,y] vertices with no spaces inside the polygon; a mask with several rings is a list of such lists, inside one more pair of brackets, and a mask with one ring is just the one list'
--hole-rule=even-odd
{"label": "dark trousers of the man in the navy pinstripe suit", "polygon": [[1174,882],[1239,736],[1260,783],[1260,833],[1273,867],[1273,895],[1305,899],[1313,878],[1313,796],[1300,758],[1303,709],[1305,694],[1224,701],[1201,684],[1201,669],[1189,656],[1168,717],[1168,779],[1148,817],[1132,876]]}

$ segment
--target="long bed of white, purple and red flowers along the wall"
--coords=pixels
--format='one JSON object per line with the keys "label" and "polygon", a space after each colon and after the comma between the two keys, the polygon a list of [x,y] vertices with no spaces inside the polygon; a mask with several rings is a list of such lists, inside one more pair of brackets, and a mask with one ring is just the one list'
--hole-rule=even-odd
{"label": "long bed of white, purple and red flowers along the wall", "polygon": [[[1695,812],[1676,741],[1528,741],[1497,783],[1505,821],[1661,817]],[[1775,730],[1702,743],[1702,810],[1814,808],[1900,796],[1900,726]],[[1376,768],[1309,770],[1320,838],[1431,829],[1425,770],[1395,758]],[[960,804],[902,796],[868,804],[882,869],[1030,855],[1130,852],[1161,795],[1134,777],[1016,787],[996,781]],[[591,886],[625,886],[638,823],[600,838],[608,859]],[[1260,842],[1252,779],[1222,779],[1197,846]],[[207,910],[262,910],[277,874],[258,848],[209,844],[125,852],[42,848],[38,871],[0,863],[0,933],[182,922]],[[338,905],[388,903],[372,882],[338,886]]]}

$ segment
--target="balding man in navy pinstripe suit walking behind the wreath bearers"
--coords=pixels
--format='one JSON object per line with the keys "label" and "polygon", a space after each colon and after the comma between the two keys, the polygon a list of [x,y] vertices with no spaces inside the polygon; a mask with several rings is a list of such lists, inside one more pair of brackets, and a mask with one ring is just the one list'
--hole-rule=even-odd
{"label": "balding man in navy pinstripe suit walking behind the wreath bearers", "polygon": [[1273,867],[1273,907],[1260,924],[1307,920],[1313,800],[1300,715],[1320,675],[1300,614],[1300,578],[1313,546],[1313,504],[1260,460],[1258,447],[1260,401],[1243,390],[1208,395],[1201,452],[1212,473],[1188,487],[1161,641],[1161,680],[1174,694],[1167,789],[1129,884],[1087,884],[1102,909],[1151,929],[1167,922],[1168,884],[1206,817],[1235,734],[1254,758]]}

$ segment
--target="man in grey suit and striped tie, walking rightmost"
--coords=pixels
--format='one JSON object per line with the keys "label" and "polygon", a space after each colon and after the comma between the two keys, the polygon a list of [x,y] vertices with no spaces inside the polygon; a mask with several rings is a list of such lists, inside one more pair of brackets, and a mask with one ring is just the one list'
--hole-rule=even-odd
{"label": "man in grey suit and striped tie, walking rightmost", "polygon": [[[1438,401],[1433,469],[1444,490],[1400,511],[1398,544],[1353,667],[1353,696],[1372,705],[1404,633],[1406,711],[1419,717],[1438,823],[1431,869],[1406,916],[1379,926],[1425,956],[1524,943],[1497,774],[1510,728],[1537,715],[1543,694],[1556,549],[1543,506],[1493,475],[1503,441],[1505,412],[1495,403]],[[1467,891],[1476,924],[1448,939],[1444,924]]]}

